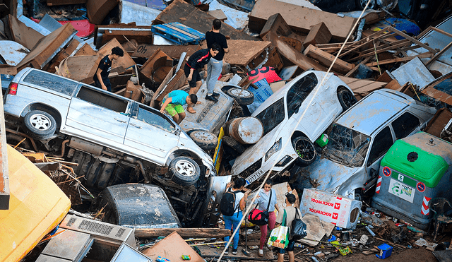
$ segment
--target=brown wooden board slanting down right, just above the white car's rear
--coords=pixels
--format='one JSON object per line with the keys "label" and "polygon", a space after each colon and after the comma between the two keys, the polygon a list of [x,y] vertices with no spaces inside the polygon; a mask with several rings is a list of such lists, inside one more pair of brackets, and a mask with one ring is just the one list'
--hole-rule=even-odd
{"label": "brown wooden board slanting down right, just above the white car's rear", "polygon": [[299,66],[300,69],[308,70],[314,69],[318,71],[326,71],[326,67],[321,66],[321,64],[314,61],[314,59],[310,59],[304,54],[297,52],[293,47],[284,42],[280,37],[275,35],[273,32],[269,32],[265,35],[266,41],[272,42],[273,47],[278,48],[278,52],[281,56],[284,56],[285,59],[291,61],[293,64]]}

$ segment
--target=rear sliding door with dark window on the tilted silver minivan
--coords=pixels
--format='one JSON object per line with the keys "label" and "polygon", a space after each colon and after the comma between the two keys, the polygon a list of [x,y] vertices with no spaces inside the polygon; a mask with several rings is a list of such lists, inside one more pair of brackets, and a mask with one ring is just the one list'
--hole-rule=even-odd
{"label": "rear sliding door with dark window on the tilted silver minivan", "polygon": [[123,143],[130,117],[129,100],[119,95],[82,86],[71,100],[66,132],[103,143]]}

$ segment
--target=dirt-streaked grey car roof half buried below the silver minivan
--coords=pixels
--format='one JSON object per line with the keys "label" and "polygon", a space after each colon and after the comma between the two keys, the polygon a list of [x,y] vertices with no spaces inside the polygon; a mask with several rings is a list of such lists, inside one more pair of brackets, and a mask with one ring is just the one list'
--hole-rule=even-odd
{"label": "dirt-streaked grey car roof half buried below the silver minivan", "polygon": [[[165,191],[150,184],[118,184],[105,189],[119,216],[119,225],[181,225]],[[105,193],[106,193],[105,192]],[[145,214],[145,215],[143,215]]]}

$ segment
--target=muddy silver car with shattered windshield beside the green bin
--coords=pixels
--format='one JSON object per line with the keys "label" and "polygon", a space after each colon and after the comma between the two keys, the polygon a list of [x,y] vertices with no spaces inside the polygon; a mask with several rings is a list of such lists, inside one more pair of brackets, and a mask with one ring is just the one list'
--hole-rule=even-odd
{"label": "muddy silver car with shattered windshield beside the green bin", "polygon": [[295,188],[361,199],[376,184],[381,158],[394,141],[424,129],[435,112],[395,90],[370,93],[333,121],[319,160],[292,170]]}

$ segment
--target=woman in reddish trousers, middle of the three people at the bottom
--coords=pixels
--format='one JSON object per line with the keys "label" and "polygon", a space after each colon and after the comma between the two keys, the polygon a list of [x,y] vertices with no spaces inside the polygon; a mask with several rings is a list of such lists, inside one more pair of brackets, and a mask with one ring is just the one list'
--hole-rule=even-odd
{"label": "woman in reddish trousers, middle of the three people at the bottom", "polygon": [[[263,257],[263,245],[266,243],[267,239],[267,226],[271,230],[275,228],[275,209],[280,211],[278,207],[278,203],[276,203],[276,191],[272,189],[273,181],[271,179],[267,179],[266,184],[263,185],[263,189],[259,191],[259,194],[256,198],[255,204],[258,204],[259,210],[267,210],[268,208],[268,225],[260,225],[261,229],[261,243],[259,245],[258,256]],[[272,249],[272,246],[268,246],[268,249]]]}

